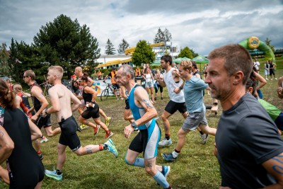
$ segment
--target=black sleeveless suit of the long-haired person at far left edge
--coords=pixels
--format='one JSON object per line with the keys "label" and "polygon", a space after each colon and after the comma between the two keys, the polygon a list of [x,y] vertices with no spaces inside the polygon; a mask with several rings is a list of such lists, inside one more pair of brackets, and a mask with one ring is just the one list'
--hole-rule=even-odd
{"label": "black sleeveless suit of the long-haired person at far left edge", "polygon": [[45,168],[33,148],[28,118],[18,108],[5,109],[3,115],[3,127],[14,142],[7,161],[10,188],[35,188],[44,178]]}

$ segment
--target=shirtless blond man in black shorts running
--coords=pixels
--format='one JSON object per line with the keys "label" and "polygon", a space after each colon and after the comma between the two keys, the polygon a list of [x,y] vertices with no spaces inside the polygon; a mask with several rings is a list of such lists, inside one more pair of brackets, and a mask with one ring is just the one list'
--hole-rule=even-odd
{"label": "shirtless blond man in black shorts running", "polygon": [[[57,181],[62,181],[63,179],[62,168],[66,161],[67,146],[78,156],[93,154],[103,150],[110,151],[115,157],[118,156],[118,151],[112,142],[112,139],[109,139],[104,144],[89,144],[86,147],[81,147],[80,139],[76,134],[77,127],[79,126],[72,115],[73,112],[79,108],[79,105],[81,105],[81,101],[62,84],[62,76],[62,67],[52,66],[48,69],[47,80],[54,86],[48,91],[52,106],[50,108],[46,108],[44,111],[44,115],[51,113],[56,115],[57,122],[62,130],[59,143],[57,145],[57,170],[45,170],[46,176]],[[71,105],[71,102],[73,102],[73,105]]]}

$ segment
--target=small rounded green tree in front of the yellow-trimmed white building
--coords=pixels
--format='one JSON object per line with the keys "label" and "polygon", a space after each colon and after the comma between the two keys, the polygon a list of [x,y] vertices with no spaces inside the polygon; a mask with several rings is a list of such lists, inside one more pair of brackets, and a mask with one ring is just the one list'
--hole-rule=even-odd
{"label": "small rounded green tree in front of the yellow-trimmed white building", "polygon": [[139,40],[132,55],[132,63],[139,67],[141,64],[154,62],[154,59],[155,54],[152,51],[151,46],[146,43],[146,40]]}

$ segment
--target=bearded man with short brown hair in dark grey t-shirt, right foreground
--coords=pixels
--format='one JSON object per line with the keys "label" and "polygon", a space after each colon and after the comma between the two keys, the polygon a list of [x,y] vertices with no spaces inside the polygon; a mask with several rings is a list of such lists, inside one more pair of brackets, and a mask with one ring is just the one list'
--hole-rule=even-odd
{"label": "bearded man with short brown hair in dark grey t-shirt, right foreground", "polygon": [[215,137],[221,188],[283,188],[283,141],[262,105],[246,93],[250,62],[241,45],[209,53],[205,82],[223,108]]}

